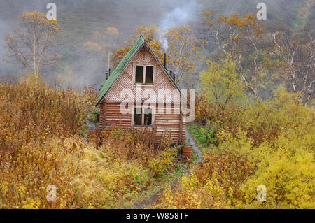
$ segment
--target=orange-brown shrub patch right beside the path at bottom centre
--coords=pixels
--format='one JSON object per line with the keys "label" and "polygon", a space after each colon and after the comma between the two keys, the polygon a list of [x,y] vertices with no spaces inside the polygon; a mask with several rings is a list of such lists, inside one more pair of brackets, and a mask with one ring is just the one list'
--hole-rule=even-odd
{"label": "orange-brown shrub patch right beside the path at bottom centre", "polygon": [[204,152],[203,163],[167,189],[156,208],[232,208],[242,198],[241,186],[256,166],[232,152]]}

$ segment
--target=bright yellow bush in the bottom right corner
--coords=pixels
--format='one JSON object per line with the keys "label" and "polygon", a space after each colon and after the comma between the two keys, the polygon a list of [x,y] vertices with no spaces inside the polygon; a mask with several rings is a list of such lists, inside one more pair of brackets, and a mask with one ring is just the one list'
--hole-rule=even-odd
{"label": "bright yellow bush in the bottom right corner", "polygon": [[256,188],[265,185],[269,207],[314,208],[315,206],[315,168],[314,155],[302,150],[294,157],[274,152],[265,166],[260,166],[253,178],[244,187],[246,203],[255,206]]}

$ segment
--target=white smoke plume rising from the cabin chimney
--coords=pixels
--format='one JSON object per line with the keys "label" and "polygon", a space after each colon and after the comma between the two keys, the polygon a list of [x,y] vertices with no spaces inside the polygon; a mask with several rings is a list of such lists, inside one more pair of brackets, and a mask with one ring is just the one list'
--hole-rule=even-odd
{"label": "white smoke plume rising from the cabin chimney", "polygon": [[179,7],[174,8],[172,11],[167,13],[160,22],[160,28],[158,31],[159,41],[163,46],[163,50],[166,52],[169,44],[167,42],[167,38],[165,34],[172,27],[179,27],[184,24],[188,24],[188,22],[192,22],[195,20],[195,12],[197,3],[195,0],[190,1],[181,1]]}

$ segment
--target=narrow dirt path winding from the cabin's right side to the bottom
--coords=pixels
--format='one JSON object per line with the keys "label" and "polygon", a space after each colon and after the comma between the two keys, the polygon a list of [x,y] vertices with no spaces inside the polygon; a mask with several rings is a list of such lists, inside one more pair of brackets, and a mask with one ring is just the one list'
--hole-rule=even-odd
{"label": "narrow dirt path winding from the cabin's right side to the bottom", "polygon": [[[193,146],[193,149],[195,150],[197,156],[198,156],[198,162],[202,162],[202,152],[197,148],[197,145],[195,143],[195,141],[193,140],[193,137],[190,136],[189,132],[188,132],[188,129],[186,127],[185,129],[185,136],[186,138],[188,139],[190,145]],[[197,165],[196,165],[197,166]],[[195,166],[195,167],[196,167]],[[188,171],[189,172],[189,171]],[[184,173],[184,174],[188,174],[187,173]],[[181,180],[181,177],[174,180],[174,182],[172,182],[172,185],[171,187],[174,188],[176,187],[177,183]],[[148,199],[144,200],[144,201],[141,201],[139,203],[136,203],[134,205],[134,209],[144,209],[144,208],[147,208],[148,206],[151,206],[153,203],[155,203],[155,201],[158,199],[158,197],[160,195],[162,195],[162,193],[164,192],[165,188],[162,188],[160,189],[158,192],[155,192],[155,194],[152,194]]]}

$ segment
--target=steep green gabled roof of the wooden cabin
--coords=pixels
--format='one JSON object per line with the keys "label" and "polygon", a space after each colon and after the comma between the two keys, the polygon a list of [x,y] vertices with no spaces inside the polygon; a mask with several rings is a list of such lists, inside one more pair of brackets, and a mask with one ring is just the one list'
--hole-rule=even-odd
{"label": "steep green gabled roof of the wooden cabin", "polygon": [[[111,88],[111,85],[113,85],[113,83],[117,80],[117,78],[119,77],[120,73],[123,73],[123,71],[125,70],[126,66],[130,63],[130,61],[132,60],[132,58],[134,58],[134,56],[137,54],[137,52],[141,49],[142,45],[144,45],[144,43],[146,43],[146,40],[144,39],[143,36],[140,36],[138,38],[138,40],[136,41],[136,43],[134,43],[134,45],[132,46],[132,48],[129,50],[129,52],[127,52],[127,55],[125,55],[125,57],[123,58],[123,60],[118,64],[118,66],[116,66],[116,69],[113,70],[113,73],[111,73],[111,75],[109,76],[109,78],[104,82],[102,88],[99,91],[99,97],[97,99],[97,104],[96,106],[99,104],[99,102],[102,101],[102,99],[104,98],[106,92],[109,91],[109,89]],[[150,45],[146,44],[148,46],[148,49],[151,50]],[[174,85],[176,86],[177,89],[179,89],[179,86],[176,85],[176,83],[174,82],[173,78],[171,77],[171,75],[169,74],[169,71],[167,71],[167,69],[165,68],[165,66],[163,66],[163,64],[160,62],[160,59],[158,59],[158,57],[155,55],[155,53],[153,52],[153,50],[151,50],[151,52],[153,53],[153,55],[155,56],[155,58],[158,60],[158,62],[160,63],[160,65],[162,66],[162,68],[165,70],[165,72],[167,73],[167,75],[169,75],[169,78],[172,80],[172,82],[174,83]],[[183,96],[183,94],[181,93],[181,89],[179,89],[180,94]],[[190,107],[188,101],[186,100],[188,106]]]}

